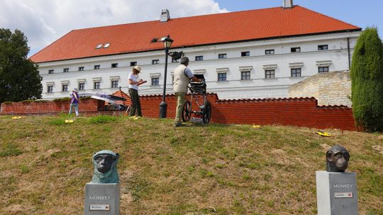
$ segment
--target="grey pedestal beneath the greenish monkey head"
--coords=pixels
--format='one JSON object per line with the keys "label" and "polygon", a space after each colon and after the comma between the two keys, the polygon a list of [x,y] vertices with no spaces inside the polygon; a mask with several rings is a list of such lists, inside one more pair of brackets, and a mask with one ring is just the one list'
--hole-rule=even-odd
{"label": "grey pedestal beneath the greenish monkey head", "polygon": [[84,215],[120,214],[120,183],[87,183]]}

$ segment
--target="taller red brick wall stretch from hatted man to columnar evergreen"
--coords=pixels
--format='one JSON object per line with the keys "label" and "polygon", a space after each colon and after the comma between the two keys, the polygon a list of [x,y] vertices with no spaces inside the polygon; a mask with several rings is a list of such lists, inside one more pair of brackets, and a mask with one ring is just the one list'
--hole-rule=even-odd
{"label": "taller red brick wall stretch from hatted man to columnar evergreen", "polygon": [[[318,129],[355,130],[353,110],[345,106],[318,106],[315,98],[218,100],[209,93],[211,122],[222,124],[280,124]],[[189,100],[190,96],[187,95]],[[141,96],[145,117],[158,117],[161,95]],[[201,97],[199,98],[202,103]],[[167,95],[167,118],[174,118],[175,96]],[[195,102],[191,103],[196,110]]]}

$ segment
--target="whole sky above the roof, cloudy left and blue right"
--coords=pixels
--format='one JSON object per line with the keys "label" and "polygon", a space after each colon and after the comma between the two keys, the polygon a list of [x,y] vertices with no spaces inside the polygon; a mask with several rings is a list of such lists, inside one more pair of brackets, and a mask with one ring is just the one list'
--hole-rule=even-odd
{"label": "whole sky above the roof, cloudy left and blue right", "polygon": [[[0,28],[28,37],[28,57],[71,30],[160,19],[282,6],[283,0],[0,0]],[[383,38],[383,0],[294,0],[294,5],[361,28],[377,27]]]}

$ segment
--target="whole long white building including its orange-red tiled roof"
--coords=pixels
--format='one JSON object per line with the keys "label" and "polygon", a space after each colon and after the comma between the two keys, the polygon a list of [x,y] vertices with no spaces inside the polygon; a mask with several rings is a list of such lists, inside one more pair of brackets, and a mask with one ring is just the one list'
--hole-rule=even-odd
{"label": "whole long white building including its orange-red tiled roof", "polygon": [[[283,98],[288,87],[318,72],[348,70],[361,28],[292,6],[72,30],[33,55],[43,76],[43,98],[128,91],[131,67],[142,67],[140,95],[162,94],[165,51],[161,37],[174,40],[194,74],[204,74],[207,91],[219,98]],[[167,93],[172,93],[169,59]]]}

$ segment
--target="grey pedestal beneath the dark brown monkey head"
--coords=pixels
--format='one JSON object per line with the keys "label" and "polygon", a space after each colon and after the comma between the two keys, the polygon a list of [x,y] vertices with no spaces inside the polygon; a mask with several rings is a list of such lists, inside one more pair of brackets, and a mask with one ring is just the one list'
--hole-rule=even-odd
{"label": "grey pedestal beneath the dark brown monkey head", "polygon": [[316,171],[318,215],[357,215],[355,173]]}

